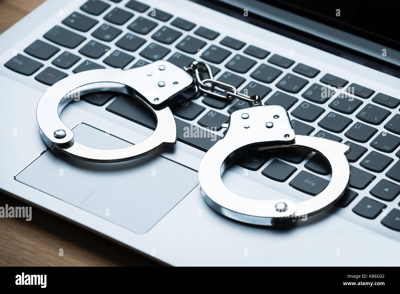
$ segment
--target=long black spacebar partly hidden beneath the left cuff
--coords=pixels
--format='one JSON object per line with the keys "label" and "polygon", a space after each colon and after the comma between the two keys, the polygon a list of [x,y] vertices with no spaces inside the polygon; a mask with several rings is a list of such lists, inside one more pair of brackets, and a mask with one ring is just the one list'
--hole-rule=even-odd
{"label": "long black spacebar partly hidden beneath the left cuff", "polygon": [[[132,99],[118,97],[106,110],[134,121],[149,129],[156,129],[155,117],[142,105]],[[178,141],[193,146],[202,151],[208,151],[222,137],[196,125],[175,118]]]}

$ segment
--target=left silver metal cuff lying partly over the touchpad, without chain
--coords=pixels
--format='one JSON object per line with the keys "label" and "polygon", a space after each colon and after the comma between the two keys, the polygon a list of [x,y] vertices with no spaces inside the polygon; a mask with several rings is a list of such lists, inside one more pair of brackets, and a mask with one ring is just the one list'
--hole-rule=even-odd
{"label": "left silver metal cuff lying partly over the touchpad, without chain", "polygon": [[[58,81],[42,95],[36,109],[40,135],[52,150],[93,162],[119,162],[142,157],[161,145],[176,143],[176,125],[169,106],[196,92],[193,78],[174,64],[160,60],[130,70],[90,70]],[[122,149],[96,149],[74,141],[60,113],[76,97],[115,91],[138,99],[154,113],[155,131],[144,141]],[[62,134],[62,135],[60,135]]]}

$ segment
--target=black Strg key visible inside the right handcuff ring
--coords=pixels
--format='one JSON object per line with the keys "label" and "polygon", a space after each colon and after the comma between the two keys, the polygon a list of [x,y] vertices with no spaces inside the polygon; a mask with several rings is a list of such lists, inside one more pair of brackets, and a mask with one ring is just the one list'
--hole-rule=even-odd
{"label": "black Strg key visible inside the right handcuff ring", "polygon": [[289,183],[289,185],[294,189],[312,196],[321,193],[328,184],[328,180],[308,173],[307,171],[300,171],[300,173],[298,173]]}

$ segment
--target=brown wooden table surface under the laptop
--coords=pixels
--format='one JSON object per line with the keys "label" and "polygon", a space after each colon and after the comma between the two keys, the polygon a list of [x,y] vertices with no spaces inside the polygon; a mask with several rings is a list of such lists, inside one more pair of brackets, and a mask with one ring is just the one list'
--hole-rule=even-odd
{"label": "brown wooden table surface under the laptop", "polygon": [[[44,0],[0,0],[0,33]],[[4,46],[6,44],[2,44]],[[0,193],[0,207],[27,206]],[[0,266],[152,266],[156,262],[32,208],[32,221],[0,218]],[[64,255],[59,256],[62,248]]]}

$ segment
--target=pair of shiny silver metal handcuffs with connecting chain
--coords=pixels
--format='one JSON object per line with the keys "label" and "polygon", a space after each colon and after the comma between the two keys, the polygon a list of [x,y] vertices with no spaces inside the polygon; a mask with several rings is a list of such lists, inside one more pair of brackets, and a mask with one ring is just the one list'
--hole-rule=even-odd
{"label": "pair of shiny silver metal handcuffs with connecting chain", "polygon": [[[203,73],[209,78],[202,79]],[[224,92],[214,92],[216,86]],[[61,121],[60,113],[76,93],[99,91],[120,92],[137,99],[155,115],[154,132],[144,141],[121,149],[96,149],[75,141],[73,131]],[[228,123],[223,125],[227,127],[224,137],[206,152],[198,168],[202,197],[214,211],[240,222],[277,226],[318,213],[345,193],[350,180],[350,166],[345,156],[350,151],[347,145],[295,135],[284,107],[262,105],[258,95],[239,93],[236,87],[215,80],[210,66],[204,62],[194,61],[182,69],[159,60],[129,70],[101,69],[74,74],[58,81],[42,95],[36,117],[40,135],[53,151],[92,162],[128,161],[162,145],[174,145],[177,132],[171,109],[199,93],[249,103],[249,108],[232,112]],[[299,203],[290,199],[256,200],[233,193],[222,182],[226,169],[247,153],[293,147],[315,151],[330,164],[332,177],[320,194]]]}

